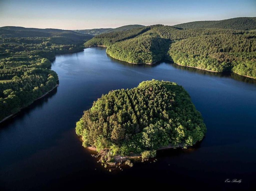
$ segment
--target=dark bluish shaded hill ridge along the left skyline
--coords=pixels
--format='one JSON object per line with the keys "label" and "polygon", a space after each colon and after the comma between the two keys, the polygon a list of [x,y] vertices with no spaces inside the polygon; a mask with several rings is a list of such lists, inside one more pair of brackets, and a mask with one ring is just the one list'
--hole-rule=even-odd
{"label": "dark bluish shaded hill ridge along the left skyline", "polygon": [[81,34],[71,30],[37,29],[7,26],[0,27],[0,37],[5,39],[22,37],[49,37],[50,40],[53,41],[56,41],[58,39],[60,44],[77,44],[81,43],[82,41],[87,41],[93,36],[89,34]]}

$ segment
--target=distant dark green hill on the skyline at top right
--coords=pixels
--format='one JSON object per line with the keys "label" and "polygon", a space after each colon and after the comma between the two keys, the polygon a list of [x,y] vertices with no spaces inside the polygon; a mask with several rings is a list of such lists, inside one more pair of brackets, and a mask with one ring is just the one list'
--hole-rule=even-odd
{"label": "distant dark green hill on the skyline at top right", "polygon": [[256,17],[237,17],[220,21],[194,21],[174,25],[174,27],[194,29],[194,28],[218,28],[234,30],[255,30]]}

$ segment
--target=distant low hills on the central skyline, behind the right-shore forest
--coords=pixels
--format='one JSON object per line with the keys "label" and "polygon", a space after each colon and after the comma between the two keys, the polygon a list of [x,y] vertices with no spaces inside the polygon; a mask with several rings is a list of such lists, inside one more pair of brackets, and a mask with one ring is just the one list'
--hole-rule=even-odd
{"label": "distant low hills on the central skyline, behind the right-shore forest", "polygon": [[101,28],[101,29],[84,29],[84,30],[74,30],[74,31],[82,33],[82,34],[98,35],[98,34],[109,33],[109,32],[127,31],[127,30],[140,28],[140,27],[145,27],[145,26],[140,25],[140,24],[130,24],[130,25],[125,25],[125,26],[118,27],[115,29]]}

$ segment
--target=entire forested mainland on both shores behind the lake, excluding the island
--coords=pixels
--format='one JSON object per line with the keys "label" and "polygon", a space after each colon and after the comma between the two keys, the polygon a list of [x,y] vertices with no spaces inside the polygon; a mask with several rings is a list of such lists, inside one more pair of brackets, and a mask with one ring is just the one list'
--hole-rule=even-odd
{"label": "entire forested mainland on both shores behind the lake, excluding the island", "polygon": [[56,86],[58,76],[49,61],[56,54],[95,45],[106,46],[111,57],[130,63],[168,59],[256,78],[256,30],[234,30],[254,29],[254,22],[234,18],[196,22],[195,27],[190,23],[187,28],[131,25],[94,37],[70,30],[0,27],[0,120]]}

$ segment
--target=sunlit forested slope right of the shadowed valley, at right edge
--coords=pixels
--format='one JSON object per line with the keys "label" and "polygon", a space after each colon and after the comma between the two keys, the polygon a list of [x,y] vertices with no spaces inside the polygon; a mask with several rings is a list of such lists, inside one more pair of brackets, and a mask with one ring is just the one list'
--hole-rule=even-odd
{"label": "sunlit forested slope right of the shadowed valley, at right edge", "polygon": [[173,43],[169,55],[180,65],[256,78],[255,39],[254,32],[190,37]]}

